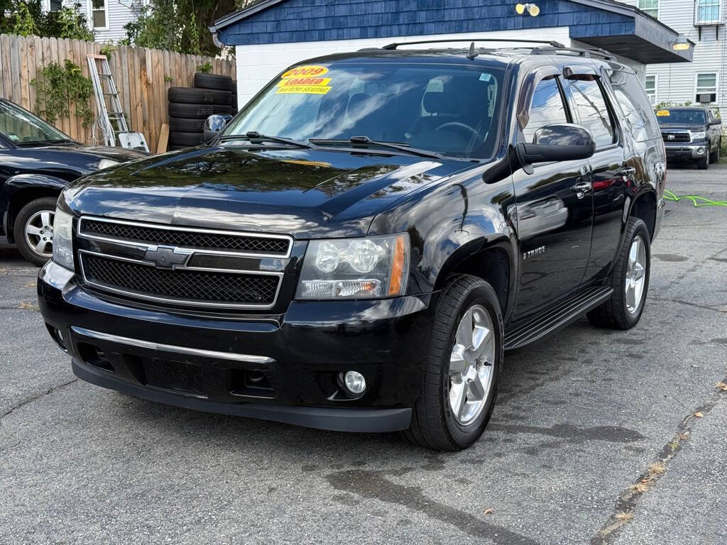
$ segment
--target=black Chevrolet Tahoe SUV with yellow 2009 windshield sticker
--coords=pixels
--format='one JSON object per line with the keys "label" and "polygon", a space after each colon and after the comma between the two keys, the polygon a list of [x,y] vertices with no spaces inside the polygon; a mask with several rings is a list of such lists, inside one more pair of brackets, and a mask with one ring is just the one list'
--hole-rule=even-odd
{"label": "black Chevrolet Tahoe SUV with yellow 2009 windshield sticker", "polygon": [[465,448],[505,350],[638,323],[664,161],[601,52],[321,57],[209,145],[69,185],[41,312],[93,384]]}

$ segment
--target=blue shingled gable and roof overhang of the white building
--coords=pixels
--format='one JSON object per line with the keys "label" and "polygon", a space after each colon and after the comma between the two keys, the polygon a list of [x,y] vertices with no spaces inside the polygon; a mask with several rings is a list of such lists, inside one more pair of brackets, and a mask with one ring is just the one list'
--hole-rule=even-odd
{"label": "blue shingled gable and roof overhang of the white building", "polygon": [[467,32],[569,28],[571,39],[637,62],[689,62],[674,51],[672,28],[611,0],[542,0],[538,17],[507,0],[262,0],[225,15],[209,30],[225,45],[391,38]]}

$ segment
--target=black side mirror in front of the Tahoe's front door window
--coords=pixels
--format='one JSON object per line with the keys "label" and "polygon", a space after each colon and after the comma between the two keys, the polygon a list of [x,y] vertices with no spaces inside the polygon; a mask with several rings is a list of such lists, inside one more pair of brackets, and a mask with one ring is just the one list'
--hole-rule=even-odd
{"label": "black side mirror in front of the Tahoe's front door window", "polygon": [[595,142],[590,131],[582,126],[546,125],[537,129],[532,144],[518,144],[517,152],[521,166],[530,174],[532,163],[587,159],[595,153]]}

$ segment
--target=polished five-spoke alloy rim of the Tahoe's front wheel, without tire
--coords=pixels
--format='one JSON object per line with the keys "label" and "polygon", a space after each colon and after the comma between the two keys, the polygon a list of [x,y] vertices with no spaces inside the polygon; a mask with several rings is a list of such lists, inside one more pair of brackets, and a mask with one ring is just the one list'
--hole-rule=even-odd
{"label": "polished five-spoke alloy rim of the Tahoe's front wheel, without tire", "polygon": [[492,386],[495,334],[489,312],[479,304],[465,312],[449,356],[449,407],[454,419],[472,424]]}

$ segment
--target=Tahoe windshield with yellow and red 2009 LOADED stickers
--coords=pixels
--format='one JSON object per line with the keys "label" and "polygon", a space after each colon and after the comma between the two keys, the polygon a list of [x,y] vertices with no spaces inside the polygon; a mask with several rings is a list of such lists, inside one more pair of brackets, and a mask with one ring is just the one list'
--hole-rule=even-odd
{"label": "Tahoe windshield with yellow and red 2009 LOADED stickers", "polygon": [[222,137],[246,132],[299,142],[368,137],[487,158],[497,137],[502,75],[499,68],[484,66],[299,66],[270,82]]}

